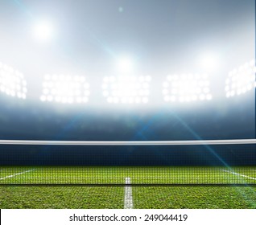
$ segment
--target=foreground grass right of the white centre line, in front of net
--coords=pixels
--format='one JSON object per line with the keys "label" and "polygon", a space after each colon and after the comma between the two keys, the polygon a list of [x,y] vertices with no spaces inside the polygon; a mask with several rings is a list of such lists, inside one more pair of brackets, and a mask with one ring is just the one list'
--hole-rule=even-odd
{"label": "foreground grass right of the white centre line, in front of net", "polygon": [[236,186],[151,186],[133,188],[136,208],[255,209],[256,188]]}

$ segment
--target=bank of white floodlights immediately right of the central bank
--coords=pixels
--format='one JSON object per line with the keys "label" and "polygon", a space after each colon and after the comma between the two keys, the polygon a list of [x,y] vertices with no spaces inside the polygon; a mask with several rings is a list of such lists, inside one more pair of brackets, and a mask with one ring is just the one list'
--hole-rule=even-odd
{"label": "bank of white floodlights immediately right of the central bank", "polygon": [[206,74],[169,75],[163,82],[163,100],[167,102],[212,100],[209,84]]}

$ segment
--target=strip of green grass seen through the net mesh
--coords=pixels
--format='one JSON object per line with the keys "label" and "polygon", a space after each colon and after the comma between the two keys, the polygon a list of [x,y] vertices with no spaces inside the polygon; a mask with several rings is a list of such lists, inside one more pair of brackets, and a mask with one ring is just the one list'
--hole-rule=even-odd
{"label": "strip of green grass seen through the net mesh", "polygon": [[3,167],[0,184],[229,184],[256,183],[256,168],[239,166]]}

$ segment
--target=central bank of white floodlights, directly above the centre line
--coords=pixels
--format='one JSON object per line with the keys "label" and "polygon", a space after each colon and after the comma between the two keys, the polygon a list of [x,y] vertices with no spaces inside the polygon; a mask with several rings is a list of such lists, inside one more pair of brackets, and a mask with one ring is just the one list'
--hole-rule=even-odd
{"label": "central bank of white floodlights, directly above the centre line", "polygon": [[110,104],[147,104],[151,76],[106,76],[102,94]]}

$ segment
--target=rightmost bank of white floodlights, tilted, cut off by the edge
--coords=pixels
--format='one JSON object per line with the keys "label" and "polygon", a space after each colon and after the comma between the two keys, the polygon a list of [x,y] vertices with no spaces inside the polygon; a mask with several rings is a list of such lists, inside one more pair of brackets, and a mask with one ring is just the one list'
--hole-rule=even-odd
{"label": "rightmost bank of white floodlights, tilted, cut off by the edge", "polygon": [[239,96],[256,87],[255,73],[254,59],[229,72],[229,76],[225,80],[226,97]]}

